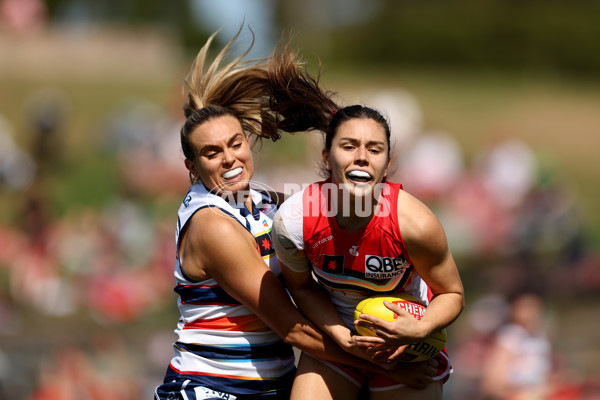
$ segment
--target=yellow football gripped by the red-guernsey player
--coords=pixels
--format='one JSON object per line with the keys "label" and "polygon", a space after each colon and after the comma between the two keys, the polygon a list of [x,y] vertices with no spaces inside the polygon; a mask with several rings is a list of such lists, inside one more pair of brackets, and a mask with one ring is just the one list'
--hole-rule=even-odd
{"label": "yellow football gripped by the red-guernsey player", "polygon": [[[369,314],[386,321],[394,321],[398,315],[388,309],[383,302],[388,301],[401,307],[416,319],[420,320],[427,307],[418,299],[408,293],[394,293],[393,295],[380,295],[368,297],[358,303],[354,310],[354,319],[360,319],[360,314]],[[364,321],[364,320],[363,320]],[[358,333],[362,336],[376,336],[375,332],[369,328],[357,326]],[[429,360],[435,357],[446,345],[446,330],[443,329],[432,333],[421,342],[409,344],[402,355],[400,361],[419,362]]]}

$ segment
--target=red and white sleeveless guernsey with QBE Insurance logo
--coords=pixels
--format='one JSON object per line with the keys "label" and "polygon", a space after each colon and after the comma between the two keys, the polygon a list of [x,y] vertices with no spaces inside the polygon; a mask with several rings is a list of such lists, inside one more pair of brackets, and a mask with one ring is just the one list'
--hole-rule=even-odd
{"label": "red and white sleeveless guernsey with QBE Insurance logo", "polygon": [[354,330],[354,308],[376,294],[408,292],[428,304],[427,285],[406,254],[398,226],[402,185],[383,185],[376,214],[356,232],[338,226],[330,201],[333,190],[335,185],[328,181],[314,183],[285,201],[279,215],[286,243],[304,252],[346,325]]}

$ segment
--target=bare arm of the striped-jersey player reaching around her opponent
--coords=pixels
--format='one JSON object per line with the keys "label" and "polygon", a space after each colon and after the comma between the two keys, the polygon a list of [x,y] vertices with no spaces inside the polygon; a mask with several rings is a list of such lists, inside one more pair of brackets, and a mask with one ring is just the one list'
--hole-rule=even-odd
{"label": "bare arm of the striped-jersey player reaching around her opponent", "polygon": [[181,253],[186,276],[213,277],[287,343],[331,361],[364,363],[298,312],[260,257],[252,236],[232,218],[214,209],[198,211],[185,232]]}

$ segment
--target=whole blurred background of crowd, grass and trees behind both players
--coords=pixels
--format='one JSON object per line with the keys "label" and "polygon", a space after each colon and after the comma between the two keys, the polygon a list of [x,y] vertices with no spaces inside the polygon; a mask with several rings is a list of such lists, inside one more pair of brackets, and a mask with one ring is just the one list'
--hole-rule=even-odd
{"label": "whole blurred background of crowd, grass and trees behind both players", "polygon": [[[149,398],[160,383],[182,82],[212,32],[216,50],[242,25],[251,56],[292,34],[341,103],[389,115],[394,176],[443,222],[466,287],[446,397],[477,382],[470,310],[524,286],[545,295],[563,376],[594,381],[598,20],[593,0],[0,1],[0,398]],[[245,28],[235,51],[249,44]],[[309,183],[319,152],[314,134],[264,143],[255,179]]]}

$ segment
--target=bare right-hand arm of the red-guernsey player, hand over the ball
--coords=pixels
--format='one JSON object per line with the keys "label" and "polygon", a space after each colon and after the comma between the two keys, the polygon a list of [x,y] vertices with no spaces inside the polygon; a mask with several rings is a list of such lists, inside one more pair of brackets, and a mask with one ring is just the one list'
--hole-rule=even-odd
{"label": "bare right-hand arm of the red-guernsey player, hand over the ball", "polygon": [[367,316],[365,319],[373,323],[372,329],[379,338],[358,339],[396,347],[420,341],[447,327],[464,307],[463,285],[442,225],[429,208],[410,194],[400,191],[398,203],[400,232],[408,257],[433,292],[433,298],[420,321],[396,305],[386,305],[398,314],[398,319],[387,322]]}

